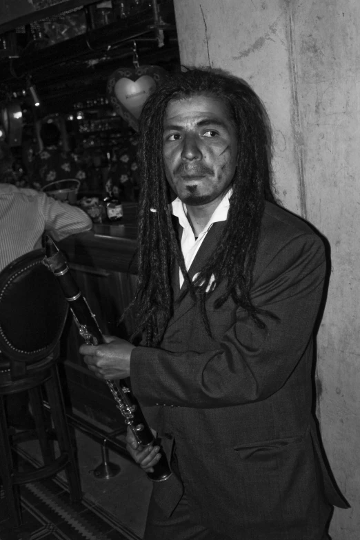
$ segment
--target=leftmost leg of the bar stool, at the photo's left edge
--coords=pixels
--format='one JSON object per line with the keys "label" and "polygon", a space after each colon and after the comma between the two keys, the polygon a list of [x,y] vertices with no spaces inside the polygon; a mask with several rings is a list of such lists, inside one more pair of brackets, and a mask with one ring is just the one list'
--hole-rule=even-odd
{"label": "leftmost leg of the bar stool, at the photo's left edge", "polygon": [[12,473],[14,472],[14,461],[12,459],[12,450],[10,446],[8,421],[5,413],[5,400],[3,395],[0,396],[0,476],[3,483],[3,491],[5,494],[6,503],[10,519],[14,527],[20,527],[21,518],[21,502],[19,495],[19,487],[12,482]]}

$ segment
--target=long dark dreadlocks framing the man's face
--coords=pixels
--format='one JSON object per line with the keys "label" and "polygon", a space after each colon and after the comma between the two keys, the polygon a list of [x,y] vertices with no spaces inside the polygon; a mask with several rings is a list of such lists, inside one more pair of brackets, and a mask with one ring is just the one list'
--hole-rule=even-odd
{"label": "long dark dreadlocks framing the man's face", "polygon": [[[232,180],[228,219],[221,240],[193,282],[190,281],[172,224],[169,186],[163,166],[163,121],[170,100],[206,95],[226,104],[237,131],[237,169]],[[138,150],[141,190],[139,199],[138,281],[134,300],[138,332],[147,332],[146,344],[157,346],[173,310],[171,286],[174,263],[183,273],[186,290],[199,301],[206,317],[206,290],[212,275],[226,291],[214,303],[219,308],[228,297],[245,308],[264,327],[250,298],[252,272],[257,254],[264,201],[275,203],[270,183],[270,123],[257,94],[237,77],[220,70],[186,68],[172,74],[154,90],[143,107]],[[129,306],[129,307],[130,307]]]}

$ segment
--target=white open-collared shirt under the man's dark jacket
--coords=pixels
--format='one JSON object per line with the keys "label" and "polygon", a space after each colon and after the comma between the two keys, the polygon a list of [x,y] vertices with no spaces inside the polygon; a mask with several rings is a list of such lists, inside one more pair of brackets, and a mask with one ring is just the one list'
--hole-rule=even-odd
{"label": "white open-collared shirt under the man's dark jacket", "polygon": [[[212,212],[212,216],[210,217],[206,226],[200,232],[197,239],[195,238],[194,231],[192,230],[187,217],[188,211],[186,209],[186,205],[181,202],[179,197],[172,201],[172,214],[179,219],[179,223],[183,228],[183,234],[181,236],[181,251],[183,252],[186,270],[189,270],[195,255],[203,243],[203,239],[206,237],[206,234],[208,234],[208,231],[212,226],[212,223],[217,221],[226,221],[228,218],[228,210],[230,206],[229,199],[231,194],[232,189],[230,188],[230,190],[228,190],[228,192],[224,195],[223,199],[221,199],[217,208],[215,208],[214,212]],[[179,270],[179,279],[181,287],[183,284],[183,274],[181,270]]]}

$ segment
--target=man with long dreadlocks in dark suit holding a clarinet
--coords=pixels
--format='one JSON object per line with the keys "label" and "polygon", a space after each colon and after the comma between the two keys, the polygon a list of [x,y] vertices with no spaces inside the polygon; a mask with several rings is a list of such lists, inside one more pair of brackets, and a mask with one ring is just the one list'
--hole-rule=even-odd
{"label": "man with long dreadlocks in dark suit holding a clarinet", "polygon": [[[173,470],[154,483],[144,538],[327,539],[346,502],[312,417],[326,261],[272,197],[261,101],[235,77],[190,69],[150,96],[140,132],[143,341],[81,353],[98,377],[130,375]],[[127,441],[152,470],[159,446]]]}

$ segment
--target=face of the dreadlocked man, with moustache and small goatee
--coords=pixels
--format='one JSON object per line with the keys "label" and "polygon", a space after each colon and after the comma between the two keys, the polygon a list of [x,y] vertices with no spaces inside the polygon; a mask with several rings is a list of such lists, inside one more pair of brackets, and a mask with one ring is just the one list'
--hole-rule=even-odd
{"label": "face of the dreadlocked man, with moustache and small goatee", "polygon": [[163,131],[166,178],[190,206],[221,200],[237,166],[237,135],[228,109],[205,95],[170,101]]}

